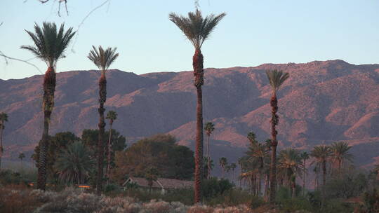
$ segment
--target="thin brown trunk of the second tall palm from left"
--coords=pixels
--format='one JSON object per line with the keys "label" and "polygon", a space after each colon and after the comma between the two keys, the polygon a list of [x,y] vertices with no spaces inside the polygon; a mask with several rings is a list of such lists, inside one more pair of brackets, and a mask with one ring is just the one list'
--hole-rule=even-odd
{"label": "thin brown trunk of the second tall palm from left", "polygon": [[96,179],[96,193],[101,194],[102,191],[102,170],[103,170],[103,160],[104,160],[104,132],[105,132],[105,120],[104,120],[104,104],[107,100],[107,79],[105,78],[105,71],[99,79],[99,140],[98,140],[98,177]]}

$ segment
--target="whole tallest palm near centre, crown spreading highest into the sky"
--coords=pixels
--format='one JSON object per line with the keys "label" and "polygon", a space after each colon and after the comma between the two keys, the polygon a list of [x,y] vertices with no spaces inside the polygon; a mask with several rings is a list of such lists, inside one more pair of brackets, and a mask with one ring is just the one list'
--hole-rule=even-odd
{"label": "whole tallest palm near centre, crown spreading highest into the sky", "polygon": [[194,13],[189,12],[188,17],[170,13],[170,20],[179,27],[187,36],[187,39],[195,48],[192,57],[192,66],[194,68],[194,86],[197,88],[197,128],[196,128],[196,145],[195,145],[195,174],[194,174],[194,202],[201,201],[201,172],[203,163],[203,92],[201,86],[204,84],[204,57],[201,54],[201,46],[204,41],[218,25],[218,22],[224,18],[225,13],[220,15],[208,15],[203,18],[201,12],[196,10]]}

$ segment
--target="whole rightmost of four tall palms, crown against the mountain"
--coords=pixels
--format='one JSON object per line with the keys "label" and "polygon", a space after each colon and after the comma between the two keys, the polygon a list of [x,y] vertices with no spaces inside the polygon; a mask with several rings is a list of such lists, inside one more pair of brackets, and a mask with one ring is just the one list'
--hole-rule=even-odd
{"label": "whole rightmost of four tall palms, crown against the mountain", "polygon": [[271,105],[271,146],[272,146],[272,154],[271,154],[271,167],[270,167],[270,204],[274,204],[275,202],[275,193],[277,188],[277,129],[276,126],[279,123],[279,116],[277,116],[278,111],[278,99],[277,99],[277,91],[280,86],[289,78],[289,74],[283,71],[267,70],[266,71],[267,78],[270,81],[270,85],[272,88],[272,96],[270,99]]}

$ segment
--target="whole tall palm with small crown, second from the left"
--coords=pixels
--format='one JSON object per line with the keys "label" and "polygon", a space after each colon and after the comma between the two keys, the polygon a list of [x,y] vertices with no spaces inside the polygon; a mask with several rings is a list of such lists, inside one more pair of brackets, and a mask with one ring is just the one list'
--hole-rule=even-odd
{"label": "whole tall palm with small crown, second from the left", "polygon": [[105,71],[109,66],[119,57],[119,53],[116,53],[117,48],[107,48],[104,50],[101,46],[95,48],[92,46],[93,50],[90,50],[88,54],[88,59],[93,62],[101,71],[101,76],[99,78],[99,139],[98,139],[98,176],[96,177],[96,193],[101,194],[102,191],[102,161],[104,160],[104,132],[105,132],[105,121],[104,121],[104,104],[107,101],[107,79],[105,78]]}

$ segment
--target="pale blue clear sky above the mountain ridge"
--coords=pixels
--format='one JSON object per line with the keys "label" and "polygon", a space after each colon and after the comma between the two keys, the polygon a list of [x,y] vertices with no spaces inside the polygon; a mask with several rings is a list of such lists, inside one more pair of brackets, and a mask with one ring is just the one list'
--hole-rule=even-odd
{"label": "pale blue clear sky above the mountain ridge", "polygon": [[[194,0],[0,0],[0,51],[29,64],[0,57],[0,79],[26,78],[46,71],[46,64],[20,49],[32,45],[25,29],[34,23],[65,22],[77,31],[57,71],[96,69],[86,57],[93,45],[117,47],[111,69],[145,74],[192,70],[194,48],[168,20],[187,15]],[[203,15],[227,13],[204,43],[204,67],[255,67],[264,63],[345,60],[379,63],[379,1],[376,0],[199,0]],[[86,16],[88,17],[86,18]],[[84,18],[86,18],[84,20]]]}

